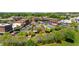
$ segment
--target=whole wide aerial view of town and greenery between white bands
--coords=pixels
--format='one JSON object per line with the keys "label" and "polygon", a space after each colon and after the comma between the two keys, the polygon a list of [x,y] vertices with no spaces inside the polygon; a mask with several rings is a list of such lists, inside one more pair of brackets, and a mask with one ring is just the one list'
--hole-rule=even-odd
{"label": "whole wide aerial view of town and greenery between white bands", "polygon": [[79,12],[1,12],[0,46],[79,46]]}

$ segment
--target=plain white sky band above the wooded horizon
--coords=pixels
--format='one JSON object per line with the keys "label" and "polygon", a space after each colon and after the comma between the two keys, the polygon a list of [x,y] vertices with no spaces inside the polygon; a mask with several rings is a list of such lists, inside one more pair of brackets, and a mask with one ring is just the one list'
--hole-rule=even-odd
{"label": "plain white sky band above the wooded horizon", "polygon": [[78,0],[0,0],[0,12],[78,12]]}

